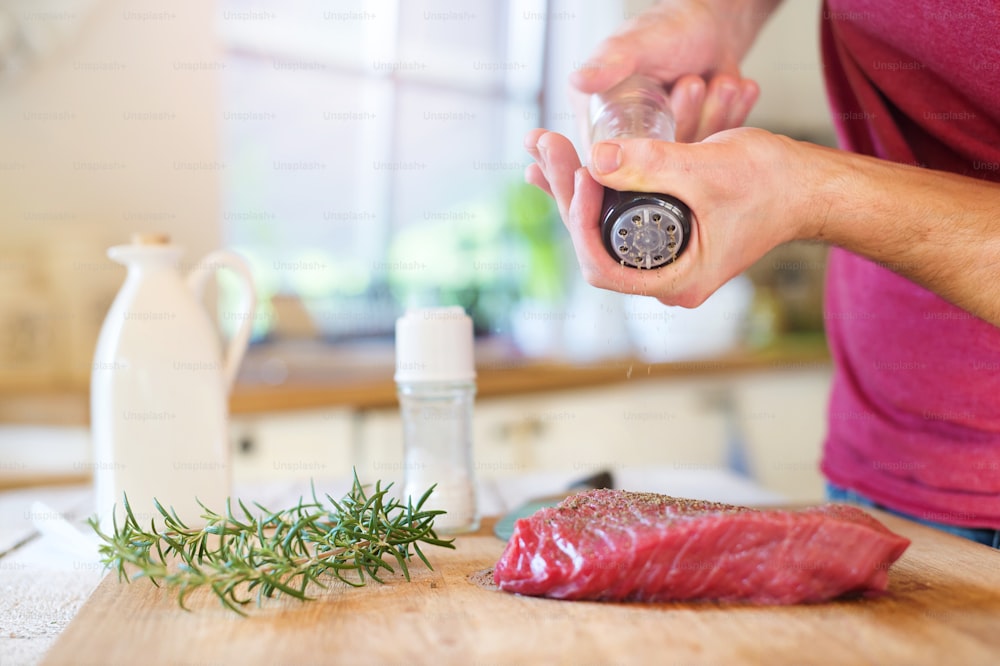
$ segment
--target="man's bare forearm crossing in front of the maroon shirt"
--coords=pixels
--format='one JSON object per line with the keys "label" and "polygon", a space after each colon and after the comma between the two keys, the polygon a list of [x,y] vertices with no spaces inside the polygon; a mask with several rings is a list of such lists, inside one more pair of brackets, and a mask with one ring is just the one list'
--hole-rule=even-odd
{"label": "man's bare forearm crossing in front of the maroon shirt", "polygon": [[1000,326],[1000,185],[802,144],[822,165],[801,236],[843,247]]}

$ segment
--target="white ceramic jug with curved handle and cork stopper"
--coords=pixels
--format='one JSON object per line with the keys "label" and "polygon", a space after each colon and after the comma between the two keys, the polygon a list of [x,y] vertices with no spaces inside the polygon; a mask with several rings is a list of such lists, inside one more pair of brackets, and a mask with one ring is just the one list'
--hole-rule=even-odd
{"label": "white ceramic jug with curved handle and cork stopper", "polygon": [[[256,296],[246,263],[226,250],[180,273],[183,249],[163,235],[134,236],[108,250],[127,267],[101,328],[91,372],[96,511],[105,532],[112,507],[122,524],[123,493],[140,524],[156,498],[198,523],[200,500],[225,510],[230,492],[228,397],[253,324]],[[219,268],[239,278],[240,325],[225,356],[202,303]],[[158,521],[159,522],[159,521]]]}

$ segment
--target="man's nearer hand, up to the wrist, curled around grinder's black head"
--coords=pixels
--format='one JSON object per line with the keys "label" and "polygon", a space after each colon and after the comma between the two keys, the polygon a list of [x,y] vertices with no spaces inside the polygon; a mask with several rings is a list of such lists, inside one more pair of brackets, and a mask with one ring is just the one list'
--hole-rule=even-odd
{"label": "man's nearer hand, up to the wrist, curled around grinder's black head", "polygon": [[[592,148],[589,167],[583,167],[566,137],[534,130],[525,137],[536,160],[526,179],[556,200],[587,282],[694,307],[773,247],[802,235],[805,221],[813,219],[808,200],[789,187],[807,170],[799,162],[798,145],[753,129],[686,145],[603,141]],[[601,240],[604,186],[684,201],[694,217],[685,253],[652,271],[619,264]]]}

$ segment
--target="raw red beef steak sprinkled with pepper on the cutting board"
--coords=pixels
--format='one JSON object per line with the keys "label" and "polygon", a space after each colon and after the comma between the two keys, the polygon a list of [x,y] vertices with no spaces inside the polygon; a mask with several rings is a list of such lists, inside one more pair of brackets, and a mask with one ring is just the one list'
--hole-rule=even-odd
{"label": "raw red beef steak sprinkled with pepper on the cutting board", "polygon": [[592,490],[517,521],[493,577],[559,599],[794,604],[884,591],[909,544],[843,504],[754,510]]}

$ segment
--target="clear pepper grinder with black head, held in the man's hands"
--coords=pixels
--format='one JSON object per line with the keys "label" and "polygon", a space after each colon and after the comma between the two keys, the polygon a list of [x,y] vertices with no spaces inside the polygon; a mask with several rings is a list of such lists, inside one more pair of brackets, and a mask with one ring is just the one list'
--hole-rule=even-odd
{"label": "clear pepper grinder with black head, held in the man's hands", "polygon": [[[674,140],[670,98],[654,79],[634,74],[595,95],[591,141]],[[659,268],[680,256],[691,236],[691,210],[680,200],[650,192],[604,189],[601,235],[608,253],[625,266]]]}

